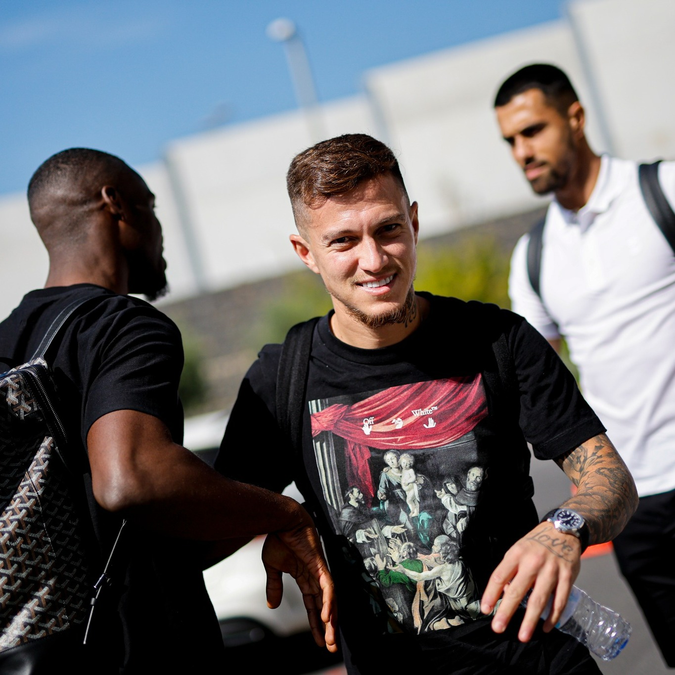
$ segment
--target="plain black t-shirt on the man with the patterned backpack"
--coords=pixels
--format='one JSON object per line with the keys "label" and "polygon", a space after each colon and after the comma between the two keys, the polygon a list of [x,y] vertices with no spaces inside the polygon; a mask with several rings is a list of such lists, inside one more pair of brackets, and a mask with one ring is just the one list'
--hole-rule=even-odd
{"label": "plain black t-shirt on the man with the patterned backpack", "polygon": [[[3,359],[9,365],[28,361],[53,319],[78,298],[98,300],[76,310],[47,353],[70,458],[86,457],[91,425],[115,410],[151,414],[182,443],[180,331],[143,300],[91,284],[32,291],[0,323],[0,369]],[[93,583],[103,571],[120,519],[92,502],[86,472],[85,462],[76,489],[80,506],[90,515],[90,522],[86,514],[82,520],[93,540],[88,570]],[[195,514],[199,517],[204,516]],[[97,610],[94,622],[99,625],[92,626],[94,640],[102,640],[101,648],[109,651],[101,653],[102,667],[111,659],[122,672],[173,672],[221,656],[220,631],[194,543],[158,537],[130,522],[115,552],[112,576],[108,609]]]}

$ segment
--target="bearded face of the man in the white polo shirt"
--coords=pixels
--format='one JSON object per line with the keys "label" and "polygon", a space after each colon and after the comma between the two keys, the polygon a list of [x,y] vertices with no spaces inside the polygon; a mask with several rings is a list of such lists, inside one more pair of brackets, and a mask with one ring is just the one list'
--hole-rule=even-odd
{"label": "bearded face of the man in the white polo shirt", "polygon": [[583,109],[578,101],[561,113],[539,89],[516,94],[495,109],[504,140],[537,194],[565,188],[583,138]]}

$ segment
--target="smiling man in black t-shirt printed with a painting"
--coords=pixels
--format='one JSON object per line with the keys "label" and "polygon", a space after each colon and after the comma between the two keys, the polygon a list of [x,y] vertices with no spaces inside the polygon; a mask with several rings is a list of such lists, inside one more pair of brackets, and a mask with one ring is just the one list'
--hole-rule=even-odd
{"label": "smiling man in black t-shirt printed with a painting", "polygon": [[[350,674],[389,662],[425,675],[599,672],[551,628],[583,547],[614,537],[636,497],[574,379],[522,317],[414,292],[417,205],[379,141],[350,134],[308,148],[288,190],[292,244],[333,300],[311,337],[302,447],[277,422],[289,400],[277,382],[288,379],[277,379],[281,346],[267,345],[216,468],[278,491],[303,486]],[[559,514],[537,522],[527,442],[578,488],[562,505],[574,527]],[[233,450],[251,443],[255,462]],[[354,526],[345,514],[357,512]]]}

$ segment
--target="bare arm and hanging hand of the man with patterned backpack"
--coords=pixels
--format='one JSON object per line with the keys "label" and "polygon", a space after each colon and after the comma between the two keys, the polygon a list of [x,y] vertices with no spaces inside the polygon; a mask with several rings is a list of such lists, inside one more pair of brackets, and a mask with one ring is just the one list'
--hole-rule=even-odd
{"label": "bare arm and hanging hand of the man with patterned backpack", "polygon": [[94,497],[103,508],[157,533],[203,541],[211,564],[223,551],[270,533],[263,547],[267,604],[279,605],[281,574],[291,574],[315,641],[337,651],[333,582],[312,518],[298,502],[221,476],[173,443],[158,418],[134,410],[99,418],[87,435],[87,450]]}

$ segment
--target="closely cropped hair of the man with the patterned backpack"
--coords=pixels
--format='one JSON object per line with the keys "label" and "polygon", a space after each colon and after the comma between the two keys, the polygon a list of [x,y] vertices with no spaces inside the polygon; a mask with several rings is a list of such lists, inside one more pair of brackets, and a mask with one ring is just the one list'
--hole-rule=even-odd
{"label": "closely cropped hair of the man with the patterned backpack", "polygon": [[133,171],[126,162],[91,148],[69,148],[46,159],[33,173],[28,183],[28,205],[51,190],[66,185],[74,186],[92,180],[97,175],[111,175],[119,171]]}

